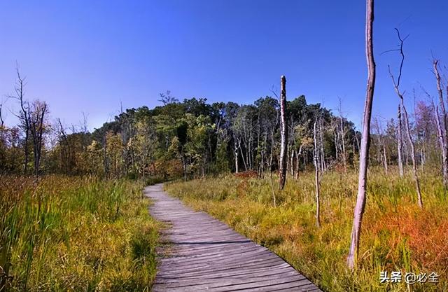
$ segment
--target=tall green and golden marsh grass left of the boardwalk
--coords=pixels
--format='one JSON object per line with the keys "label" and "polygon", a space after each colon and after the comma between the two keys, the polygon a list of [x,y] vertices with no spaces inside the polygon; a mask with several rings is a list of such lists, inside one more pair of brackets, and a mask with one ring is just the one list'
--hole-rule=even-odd
{"label": "tall green and golden marsh grass left of the boardwalk", "polygon": [[8,291],[150,290],[158,223],[143,183],[0,180],[0,279]]}

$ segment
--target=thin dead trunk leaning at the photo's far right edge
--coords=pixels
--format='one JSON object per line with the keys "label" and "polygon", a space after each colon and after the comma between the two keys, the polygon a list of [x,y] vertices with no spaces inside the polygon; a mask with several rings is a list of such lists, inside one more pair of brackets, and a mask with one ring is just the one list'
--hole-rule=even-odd
{"label": "thin dead trunk leaning at the photo's far right edge", "polygon": [[[440,137],[440,147],[442,148],[442,175],[443,175],[443,184],[445,187],[448,186],[448,137],[447,137],[447,127],[448,127],[448,121],[447,121],[447,111],[445,109],[445,104],[443,100],[443,90],[442,90],[442,84],[440,81],[440,74],[438,69],[438,60],[433,60],[433,68],[434,68],[434,75],[435,75],[435,81],[437,85],[437,93],[439,96],[439,107],[440,112],[436,111],[435,115],[437,115],[437,131],[439,132]],[[448,88],[447,88],[448,89]],[[447,92],[448,93],[448,92]],[[437,107],[438,109],[438,107]],[[442,116],[440,118],[439,114]]]}

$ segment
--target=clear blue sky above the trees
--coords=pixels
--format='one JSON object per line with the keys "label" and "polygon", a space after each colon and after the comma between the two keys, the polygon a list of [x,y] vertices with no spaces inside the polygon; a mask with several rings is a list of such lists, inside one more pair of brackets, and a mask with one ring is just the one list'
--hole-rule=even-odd
{"label": "clear blue sky above the trees", "polygon": [[[15,62],[27,98],[52,117],[99,127],[123,107],[158,105],[158,94],[251,103],[286,75],[288,99],[306,95],[359,124],[365,99],[365,1],[1,1],[0,94],[13,92]],[[395,116],[387,65],[398,67],[394,27],[403,35],[402,76],[435,94],[431,53],[448,64],[448,2],[376,1],[374,113]],[[8,107],[15,108],[9,100]],[[11,113],[7,121],[15,123]]]}

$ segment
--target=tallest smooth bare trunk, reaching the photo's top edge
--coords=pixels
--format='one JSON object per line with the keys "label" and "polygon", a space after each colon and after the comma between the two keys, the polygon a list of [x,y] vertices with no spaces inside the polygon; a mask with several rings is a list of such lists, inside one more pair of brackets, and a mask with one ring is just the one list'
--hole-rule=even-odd
{"label": "tallest smooth bare trunk, reaching the photo's top edge", "polygon": [[373,18],[374,18],[374,0],[366,1],[365,15],[365,57],[367,59],[367,92],[365,96],[364,118],[363,118],[363,137],[360,145],[359,155],[359,176],[358,176],[358,195],[356,197],[356,207],[353,215],[353,228],[351,230],[351,244],[347,265],[353,270],[356,264],[356,257],[359,249],[359,239],[361,232],[361,223],[365,209],[365,191],[367,189],[367,162],[370,147],[370,120],[372,118],[372,102],[375,88],[375,61],[373,57]]}

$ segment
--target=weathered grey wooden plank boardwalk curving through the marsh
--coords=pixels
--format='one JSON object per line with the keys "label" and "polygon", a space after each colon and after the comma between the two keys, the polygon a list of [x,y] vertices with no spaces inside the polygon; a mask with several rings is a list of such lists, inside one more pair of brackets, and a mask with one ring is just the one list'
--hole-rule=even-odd
{"label": "weathered grey wooden plank boardwalk curving through the marsh", "polygon": [[149,186],[151,214],[171,227],[153,291],[321,291],[283,259],[204,212]]}

